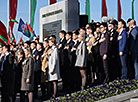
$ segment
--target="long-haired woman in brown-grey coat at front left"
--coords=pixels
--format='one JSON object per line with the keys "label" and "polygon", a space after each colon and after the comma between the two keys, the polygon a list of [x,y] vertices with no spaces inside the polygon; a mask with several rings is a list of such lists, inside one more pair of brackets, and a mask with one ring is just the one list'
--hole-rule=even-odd
{"label": "long-haired woman in brown-grey coat at front left", "polygon": [[25,48],[24,53],[25,53],[25,60],[22,63],[21,90],[23,92],[27,92],[29,102],[33,102],[34,59],[32,57],[30,48]]}

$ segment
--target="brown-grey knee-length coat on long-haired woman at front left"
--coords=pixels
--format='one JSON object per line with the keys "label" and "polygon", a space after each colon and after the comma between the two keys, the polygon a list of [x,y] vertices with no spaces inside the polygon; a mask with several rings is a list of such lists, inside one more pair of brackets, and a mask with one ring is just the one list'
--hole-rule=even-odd
{"label": "brown-grey knee-length coat on long-haired woman at front left", "polygon": [[[21,90],[33,91],[34,89],[34,59],[26,58],[22,65]],[[26,83],[26,79],[30,79],[30,83]]]}

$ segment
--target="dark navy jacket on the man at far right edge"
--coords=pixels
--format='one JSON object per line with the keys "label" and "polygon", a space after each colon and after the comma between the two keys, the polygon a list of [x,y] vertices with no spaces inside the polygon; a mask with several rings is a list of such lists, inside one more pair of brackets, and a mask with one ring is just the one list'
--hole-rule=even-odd
{"label": "dark navy jacket on the man at far right edge", "polygon": [[138,27],[134,27],[129,35],[129,48],[133,59],[138,58]]}

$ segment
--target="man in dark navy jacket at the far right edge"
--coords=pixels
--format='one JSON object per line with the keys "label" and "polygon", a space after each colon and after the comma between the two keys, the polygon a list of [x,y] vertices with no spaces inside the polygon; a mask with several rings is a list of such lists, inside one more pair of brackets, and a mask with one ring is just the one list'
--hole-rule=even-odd
{"label": "man in dark navy jacket at the far right edge", "polygon": [[135,79],[138,80],[138,27],[135,20],[131,20],[130,24],[132,30],[129,34],[129,48],[135,69]]}

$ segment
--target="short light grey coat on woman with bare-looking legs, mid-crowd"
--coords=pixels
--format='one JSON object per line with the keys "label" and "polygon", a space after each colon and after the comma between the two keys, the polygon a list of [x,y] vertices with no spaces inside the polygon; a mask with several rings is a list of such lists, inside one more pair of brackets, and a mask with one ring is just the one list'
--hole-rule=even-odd
{"label": "short light grey coat on woman with bare-looking legs, mid-crowd", "polygon": [[87,49],[86,49],[86,43],[81,42],[76,50],[76,63],[75,66],[81,67],[83,64],[83,67],[86,67],[86,55],[87,55]]}

